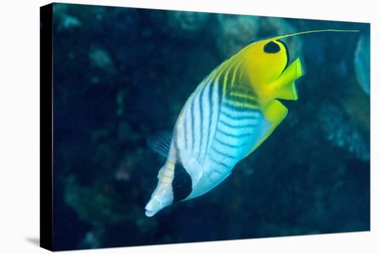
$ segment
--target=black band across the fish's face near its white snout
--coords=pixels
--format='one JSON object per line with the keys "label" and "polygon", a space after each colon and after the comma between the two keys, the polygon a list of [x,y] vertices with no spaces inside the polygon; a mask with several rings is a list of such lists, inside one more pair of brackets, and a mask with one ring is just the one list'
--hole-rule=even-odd
{"label": "black band across the fish's face near its white snout", "polygon": [[173,203],[181,201],[182,199],[185,199],[187,196],[190,195],[192,185],[191,176],[187,171],[184,169],[184,167],[180,164],[175,165],[174,170],[174,179],[171,183],[171,186],[173,187]]}

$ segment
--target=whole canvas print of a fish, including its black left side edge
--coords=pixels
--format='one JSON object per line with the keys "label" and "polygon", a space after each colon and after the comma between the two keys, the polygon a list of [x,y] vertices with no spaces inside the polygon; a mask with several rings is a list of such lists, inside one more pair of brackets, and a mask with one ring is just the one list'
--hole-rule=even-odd
{"label": "whole canvas print of a fish, including its black left side edge", "polygon": [[369,23],[53,3],[49,32],[48,248],[370,230]]}

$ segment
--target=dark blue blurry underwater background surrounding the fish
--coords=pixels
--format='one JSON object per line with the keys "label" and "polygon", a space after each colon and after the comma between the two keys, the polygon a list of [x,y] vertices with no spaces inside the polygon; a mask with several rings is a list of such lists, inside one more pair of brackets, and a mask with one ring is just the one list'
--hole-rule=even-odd
{"label": "dark blue blurry underwater background surrounding the fish", "polygon": [[[172,130],[200,81],[252,39],[303,59],[285,120],[209,193],[144,206]],[[55,250],[370,230],[370,25],[53,5]]]}

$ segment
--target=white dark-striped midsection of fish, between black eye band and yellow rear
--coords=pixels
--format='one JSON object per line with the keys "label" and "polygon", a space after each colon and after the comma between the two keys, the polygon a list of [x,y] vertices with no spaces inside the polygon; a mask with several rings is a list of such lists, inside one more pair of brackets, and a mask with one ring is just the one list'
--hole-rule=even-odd
{"label": "white dark-striped midsection of fish, between black eye band and yellow rear", "polygon": [[261,110],[229,103],[220,76],[204,82],[185,104],[171,144],[193,180],[187,199],[220,184],[270,127]]}

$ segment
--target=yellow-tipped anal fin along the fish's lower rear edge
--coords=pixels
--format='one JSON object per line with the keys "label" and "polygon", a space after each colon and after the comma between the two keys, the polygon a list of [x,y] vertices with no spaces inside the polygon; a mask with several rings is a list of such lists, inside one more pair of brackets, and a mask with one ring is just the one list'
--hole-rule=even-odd
{"label": "yellow-tipped anal fin along the fish's lower rear edge", "polygon": [[278,124],[285,119],[287,115],[287,108],[278,100],[274,99],[272,101],[269,101],[267,106],[265,106],[263,110],[263,115],[265,122],[265,126],[263,126],[263,131],[265,133],[260,133],[261,138],[257,141],[257,143],[254,145],[254,147],[249,150],[249,153],[245,155],[247,157],[250,153],[252,153],[260,144],[269,137],[274,131],[274,129],[278,126]]}

